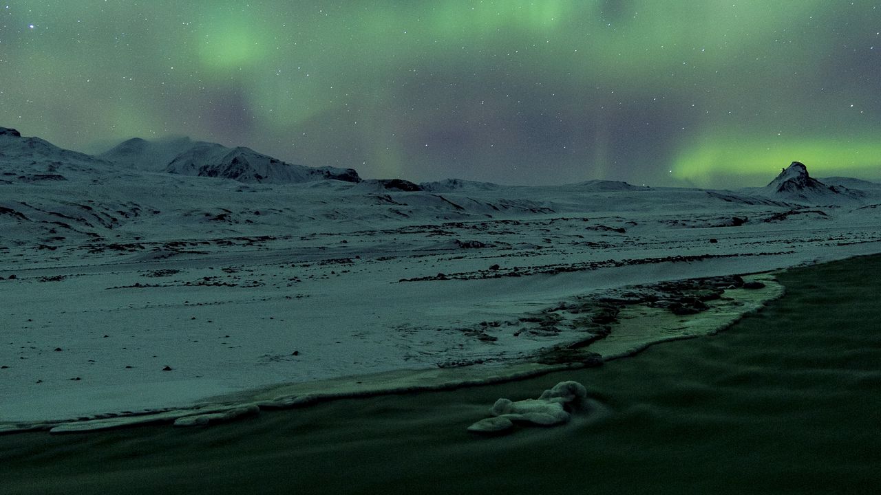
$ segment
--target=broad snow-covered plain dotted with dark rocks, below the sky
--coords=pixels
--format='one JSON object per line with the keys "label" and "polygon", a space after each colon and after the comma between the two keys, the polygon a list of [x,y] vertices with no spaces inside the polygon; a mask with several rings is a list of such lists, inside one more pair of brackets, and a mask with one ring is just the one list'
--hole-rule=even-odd
{"label": "broad snow-covered plain dotted with dark rocks, below the sky", "polygon": [[[414,187],[343,169],[322,169],[343,181],[301,169],[263,180],[288,164],[255,173],[248,153],[267,157],[216,146],[213,159],[244,173],[205,159],[174,174],[156,157],[191,156],[180,143],[111,161],[17,134],[0,129],[7,429],[534,371],[584,340],[579,314],[628,285],[881,251],[881,185],[818,186],[795,165],[739,191]],[[779,295],[766,284],[753,299]],[[707,314],[754,308],[747,292]],[[643,306],[619,320],[586,349],[611,357],[688,335],[700,314]]]}

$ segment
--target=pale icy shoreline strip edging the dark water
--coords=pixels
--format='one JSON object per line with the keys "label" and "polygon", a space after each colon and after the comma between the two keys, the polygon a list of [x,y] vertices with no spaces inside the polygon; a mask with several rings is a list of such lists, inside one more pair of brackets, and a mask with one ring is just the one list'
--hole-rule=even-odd
{"label": "pale icy shoreline strip edging the dark water", "polygon": [[[744,277],[747,282],[766,284],[760,289],[729,289],[710,307],[689,316],[676,316],[660,308],[626,307],[627,314],[612,326],[611,336],[584,348],[584,359],[570,358],[559,364],[537,362],[456,366],[433,369],[402,369],[384,373],[344,376],[331,380],[288,383],[229,395],[197,400],[177,407],[130,413],[96,414],[93,417],[54,418],[0,422],[0,432],[48,430],[53,433],[88,432],[130,425],[174,423],[206,425],[254,414],[258,410],[300,407],[342,397],[374,396],[411,391],[445,390],[475,385],[521,380],[544,373],[584,366],[598,366],[603,360],[631,356],[650,345],[714,334],[745,314],[758,310],[767,301],[781,297],[783,287],[770,274]],[[640,316],[641,314],[641,316]],[[650,325],[650,330],[648,329]],[[607,340],[608,339],[608,340]],[[597,352],[599,355],[594,354]],[[167,388],[162,390],[167,392]]]}

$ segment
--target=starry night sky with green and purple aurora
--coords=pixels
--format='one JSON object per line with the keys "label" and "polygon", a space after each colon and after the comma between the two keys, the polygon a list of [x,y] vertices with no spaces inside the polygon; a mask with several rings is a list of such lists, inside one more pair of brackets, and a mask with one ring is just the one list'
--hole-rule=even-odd
{"label": "starry night sky with green and purple aurora", "polygon": [[881,177],[881,3],[0,1],[0,126],[363,177]]}

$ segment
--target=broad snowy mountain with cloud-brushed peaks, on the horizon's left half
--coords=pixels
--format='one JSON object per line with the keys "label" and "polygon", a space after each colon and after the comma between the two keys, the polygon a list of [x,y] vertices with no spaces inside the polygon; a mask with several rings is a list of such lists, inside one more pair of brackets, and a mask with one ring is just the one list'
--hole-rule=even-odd
{"label": "broad snowy mountain with cloud-brushed peaks, on the horizon's left half", "polygon": [[359,182],[351,168],[294,165],[246,147],[191,141],[188,137],[147,141],[129,139],[101,153],[118,165],[168,174],[217,177],[246,183],[299,183],[337,180]]}

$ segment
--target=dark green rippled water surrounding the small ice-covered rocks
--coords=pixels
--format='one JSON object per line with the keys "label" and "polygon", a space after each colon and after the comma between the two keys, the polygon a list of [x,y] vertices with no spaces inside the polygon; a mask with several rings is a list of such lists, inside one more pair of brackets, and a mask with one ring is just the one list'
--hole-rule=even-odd
{"label": "dark green rippled water surrounding the small ice-covered rocks", "polygon": [[[600,368],[207,429],[3,436],[0,493],[879,493],[879,273],[881,256],[792,270],[732,329]],[[465,432],[559,380],[608,410]]]}

